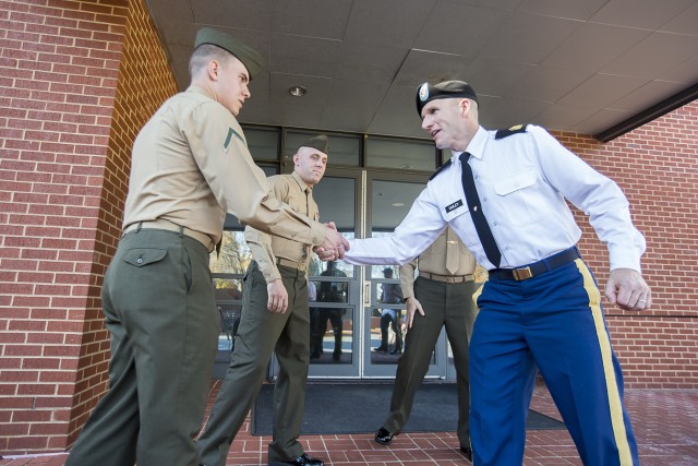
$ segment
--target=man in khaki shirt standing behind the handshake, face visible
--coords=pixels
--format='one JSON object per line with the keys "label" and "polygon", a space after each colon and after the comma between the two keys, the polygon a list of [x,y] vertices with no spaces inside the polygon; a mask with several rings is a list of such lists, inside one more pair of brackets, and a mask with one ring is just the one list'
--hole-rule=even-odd
{"label": "man in khaki shirt standing behind the handshake, face visible", "polygon": [[[327,136],[303,142],[293,155],[293,165],[292,174],[269,178],[276,199],[316,220],[320,212],[313,187],[327,166]],[[279,373],[274,386],[269,465],[322,466],[323,462],[309,456],[298,441],[310,363],[306,271],[311,247],[250,226],[244,239],[253,261],[244,277],[242,320],[230,366],[197,441],[201,463],[225,466],[230,444],[260,393],[272,354],[276,354]]]}

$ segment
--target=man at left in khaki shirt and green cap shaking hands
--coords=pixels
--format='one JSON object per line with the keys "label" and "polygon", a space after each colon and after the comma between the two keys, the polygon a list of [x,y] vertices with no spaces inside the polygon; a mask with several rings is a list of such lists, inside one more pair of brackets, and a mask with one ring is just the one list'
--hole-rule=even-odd
{"label": "man at left in khaki shirt and green cap shaking hands", "polygon": [[346,242],[333,224],[277,201],[252,160],[236,117],[262,64],[240,40],[200,29],[191,85],[165,101],[135,139],[123,236],[101,289],[109,391],[71,449],[69,466],[198,465],[193,438],[219,332],[208,259],[226,213],[335,252]]}

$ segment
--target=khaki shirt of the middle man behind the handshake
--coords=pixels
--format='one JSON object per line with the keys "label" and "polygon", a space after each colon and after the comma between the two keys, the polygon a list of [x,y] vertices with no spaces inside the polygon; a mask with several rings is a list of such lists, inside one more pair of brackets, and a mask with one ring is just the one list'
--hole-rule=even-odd
{"label": "khaki shirt of the middle man behind the handshake", "polygon": [[[320,211],[313,199],[313,188],[305,183],[298,172],[269,177],[269,183],[276,199],[286,202],[292,210],[313,220],[320,218]],[[281,278],[276,266],[277,258],[298,262],[302,264],[302,270],[308,268],[311,248],[305,242],[269,236],[251,226],[244,229],[244,240],[250,247],[252,256],[260,264],[260,271],[267,283]]]}

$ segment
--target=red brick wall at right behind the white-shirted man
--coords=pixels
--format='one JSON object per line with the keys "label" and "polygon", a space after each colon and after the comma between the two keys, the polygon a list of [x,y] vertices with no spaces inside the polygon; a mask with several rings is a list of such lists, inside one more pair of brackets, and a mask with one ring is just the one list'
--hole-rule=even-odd
{"label": "red brick wall at right behind the white-shirted man", "polygon": [[[605,303],[607,325],[628,387],[698,387],[698,101],[607,144],[579,134],[555,135],[613,178],[647,238],[642,274],[652,309],[623,312]],[[580,249],[600,285],[607,253],[586,217]]]}

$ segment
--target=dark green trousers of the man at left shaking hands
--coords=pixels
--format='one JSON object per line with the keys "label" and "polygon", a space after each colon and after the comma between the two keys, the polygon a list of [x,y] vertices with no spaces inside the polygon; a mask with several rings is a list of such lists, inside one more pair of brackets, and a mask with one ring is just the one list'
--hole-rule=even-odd
{"label": "dark green trousers of the man at left shaking hands", "polygon": [[101,290],[111,335],[109,391],[69,466],[198,464],[218,315],[200,242],[164,230],[124,236]]}

